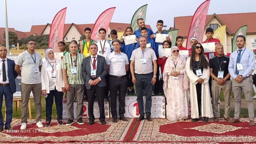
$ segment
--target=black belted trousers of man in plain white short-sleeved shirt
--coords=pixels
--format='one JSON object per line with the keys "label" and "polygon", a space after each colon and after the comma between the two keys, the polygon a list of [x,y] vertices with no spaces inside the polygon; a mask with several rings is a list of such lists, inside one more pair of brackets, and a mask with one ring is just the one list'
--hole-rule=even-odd
{"label": "black belted trousers of man in plain white short-sleeved shirt", "polygon": [[115,78],[110,75],[110,108],[112,118],[117,118],[116,111],[116,98],[117,92],[119,97],[119,116],[124,117],[125,114],[125,95],[127,91],[127,79],[126,77]]}

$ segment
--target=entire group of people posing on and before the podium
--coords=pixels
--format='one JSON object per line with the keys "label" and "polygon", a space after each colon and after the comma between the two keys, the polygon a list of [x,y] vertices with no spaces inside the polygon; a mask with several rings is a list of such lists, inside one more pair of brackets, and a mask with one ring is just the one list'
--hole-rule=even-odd
{"label": "entire group of people posing on and before the podium", "polygon": [[[159,48],[170,48],[171,39],[167,36],[163,43],[155,42],[155,34],[166,34],[162,31],[163,21],[158,20],[157,32],[145,27],[143,19],[137,20],[138,30],[133,32],[131,27],[125,30],[125,36],[136,35],[137,43],[125,44],[124,39],[117,38],[117,32],[111,31],[111,41],[105,39],[106,30],[99,29],[100,40],[91,39],[91,29],[85,28],[86,39],[80,43],[80,51],[76,41],[69,45],[69,52],[64,50],[65,43],[59,42],[59,50],[63,52],[62,59],[56,59],[52,48],[45,50],[45,62],[36,49],[36,42],[29,40],[27,51],[18,55],[16,63],[8,58],[7,49],[0,47],[0,108],[5,97],[6,122],[0,114],[0,132],[13,129],[12,98],[16,92],[15,78],[22,76],[21,80],[21,121],[20,129],[26,129],[27,106],[32,91],[36,125],[44,127],[41,122],[41,95],[46,101],[45,127],[51,125],[53,99],[57,109],[57,123],[62,125],[63,93],[66,93],[68,121],[66,125],[74,124],[74,97],[77,99],[77,122],[84,124],[83,101],[88,99],[88,125],[94,123],[93,105],[97,99],[100,111],[100,124],[105,125],[104,99],[108,98],[110,91],[110,105],[112,122],[128,121],[125,114],[126,94],[135,94],[140,117],[138,121],[152,121],[151,105],[152,95],[161,92],[159,73],[162,73],[163,92],[167,101],[167,118],[171,121],[184,121],[188,118],[189,105],[191,105],[192,122],[203,122],[214,117],[219,120],[218,100],[223,90],[225,98],[225,120],[230,123],[239,122],[241,109],[241,94],[244,91],[248,103],[249,125],[254,126],[254,106],[252,99],[252,71],[255,69],[255,58],[252,51],[245,48],[245,37],[237,36],[238,50],[230,57],[223,54],[223,45],[218,39],[212,38],[213,29],[207,28],[207,39],[203,43],[215,42],[215,55],[209,59],[197,38],[190,38],[192,47],[189,49],[190,57],[185,58],[179,54],[183,37],[177,36],[177,46],[171,48],[170,57],[159,58]],[[150,47],[146,45],[150,43]],[[232,80],[232,82],[231,82]],[[233,88],[235,96],[234,118],[229,117],[230,95]],[[152,93],[153,92],[153,93]],[[86,94],[85,94],[86,93]],[[145,95],[145,112],[143,96]],[[212,97],[212,100],[211,100]],[[116,110],[116,101],[119,101],[119,113]],[[1,110],[0,110],[1,112]]]}

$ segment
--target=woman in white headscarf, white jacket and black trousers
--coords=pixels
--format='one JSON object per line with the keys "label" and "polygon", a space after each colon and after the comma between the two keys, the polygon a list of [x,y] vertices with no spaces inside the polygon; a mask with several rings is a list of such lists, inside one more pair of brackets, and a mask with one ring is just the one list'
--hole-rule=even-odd
{"label": "woman in white headscarf, white jacket and black trousers", "polygon": [[65,85],[62,78],[62,62],[54,58],[52,48],[45,50],[45,60],[41,68],[42,95],[45,97],[46,102],[45,127],[51,125],[53,97],[55,98],[57,109],[57,123],[58,125],[62,125],[62,97],[65,92]]}

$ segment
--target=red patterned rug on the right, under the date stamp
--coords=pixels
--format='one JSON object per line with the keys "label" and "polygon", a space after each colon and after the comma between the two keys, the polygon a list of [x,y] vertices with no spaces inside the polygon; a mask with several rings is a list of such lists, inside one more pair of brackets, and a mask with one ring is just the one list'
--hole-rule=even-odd
{"label": "red patterned rug on the right, under the date stamp", "polygon": [[255,143],[256,127],[249,127],[248,118],[240,123],[229,124],[220,118],[219,122],[207,123],[169,121],[167,119],[146,120],[137,123],[129,142],[137,143]]}

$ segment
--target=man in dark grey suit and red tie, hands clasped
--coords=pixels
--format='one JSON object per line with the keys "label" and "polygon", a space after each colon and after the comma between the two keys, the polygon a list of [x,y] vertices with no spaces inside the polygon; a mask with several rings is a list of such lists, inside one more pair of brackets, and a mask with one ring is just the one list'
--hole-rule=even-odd
{"label": "man in dark grey suit and red tie, hands clasped", "polygon": [[104,112],[104,92],[106,81],[105,76],[107,75],[107,64],[104,57],[97,55],[98,46],[97,44],[90,44],[89,46],[91,56],[86,57],[83,60],[82,74],[85,78],[85,86],[88,97],[88,125],[94,123],[93,104],[95,100],[95,94],[98,100],[100,108],[100,124],[105,125],[105,112]]}

